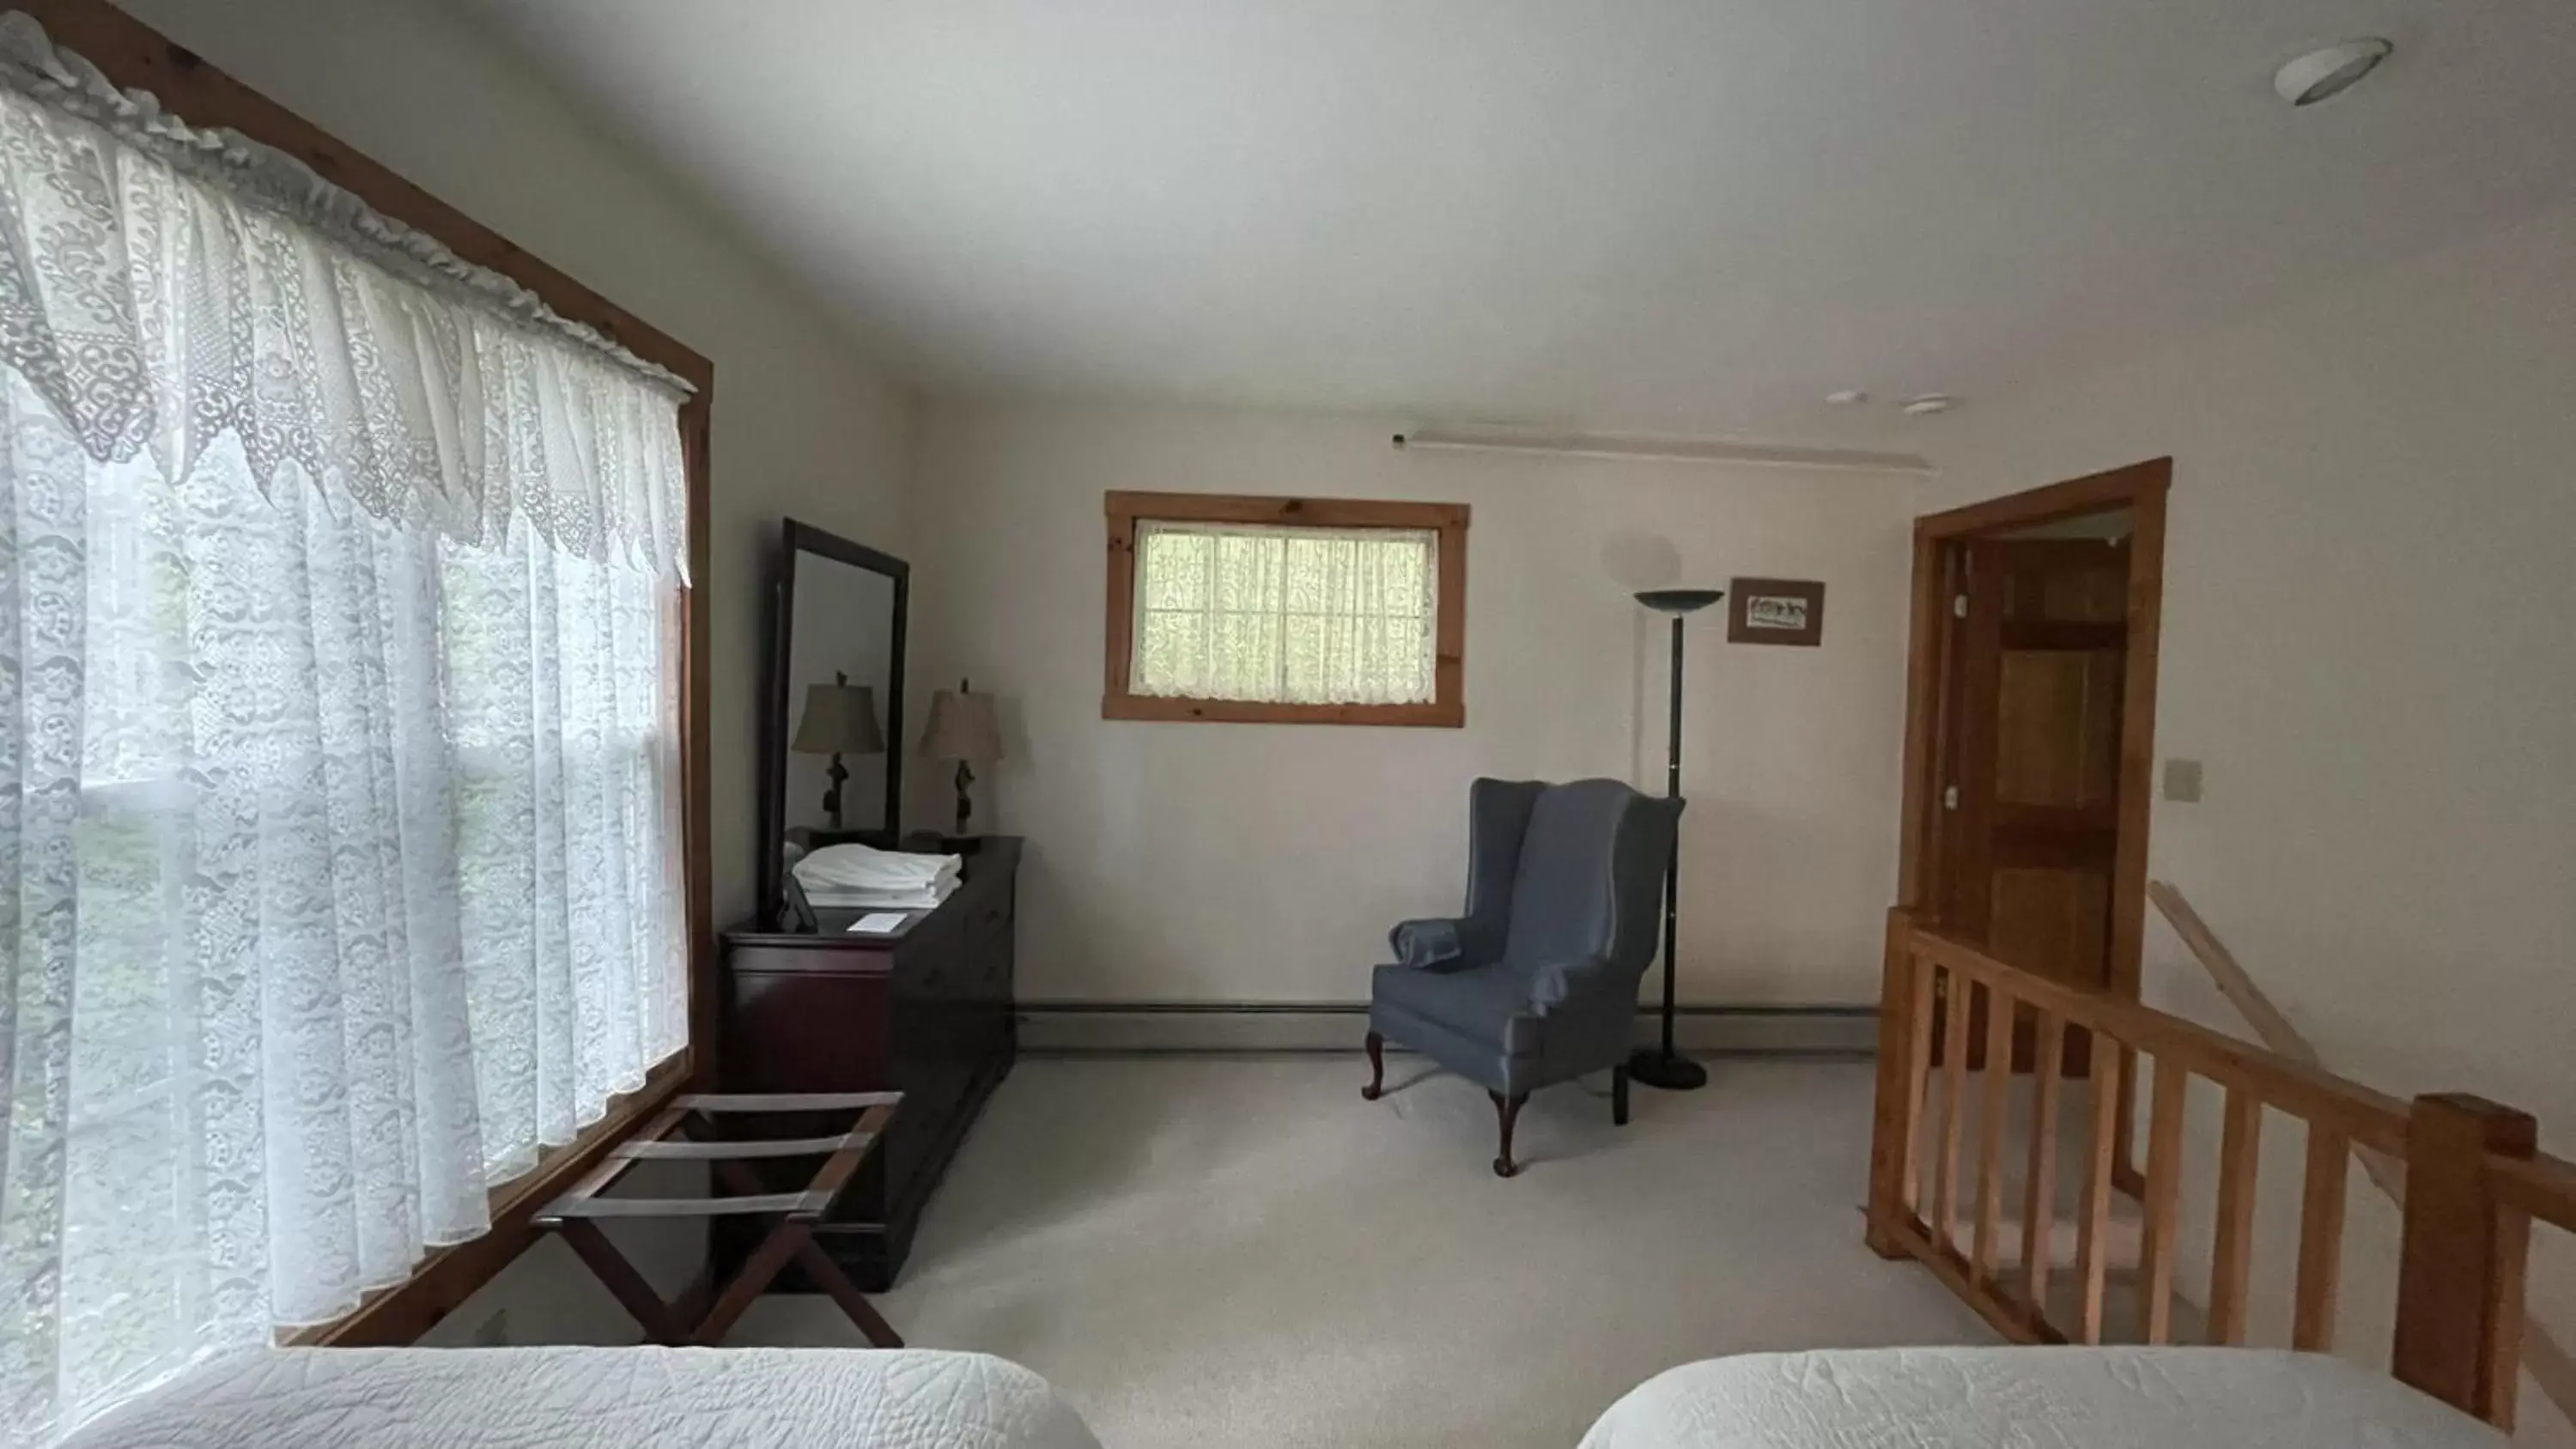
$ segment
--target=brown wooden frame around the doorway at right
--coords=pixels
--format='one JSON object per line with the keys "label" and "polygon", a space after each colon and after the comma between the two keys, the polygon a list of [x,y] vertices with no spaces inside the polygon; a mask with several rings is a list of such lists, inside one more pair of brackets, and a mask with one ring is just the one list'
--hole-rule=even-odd
{"label": "brown wooden frame around the doorway at right", "polygon": [[2156,790],[2156,646],[2164,631],[2164,507],[2174,461],[2151,458],[1984,499],[1914,520],[1914,623],[1906,649],[1906,754],[1899,813],[1896,909],[1922,914],[1932,901],[1932,834],[1940,816],[1940,718],[1945,646],[1950,638],[1950,569],[1965,540],[2014,533],[2089,512],[2130,510],[2128,672],[2120,692],[2120,842],[2110,883],[2110,991],[2138,999],[2146,952],[2146,844]]}

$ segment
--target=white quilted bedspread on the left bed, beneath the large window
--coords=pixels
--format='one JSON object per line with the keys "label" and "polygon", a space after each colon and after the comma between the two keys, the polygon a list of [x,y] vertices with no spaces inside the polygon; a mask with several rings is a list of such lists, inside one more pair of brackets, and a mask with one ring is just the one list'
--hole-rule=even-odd
{"label": "white quilted bedspread on the left bed, beneath the large window", "polygon": [[1038,1374],[922,1349],[276,1349],[77,1449],[1100,1449]]}

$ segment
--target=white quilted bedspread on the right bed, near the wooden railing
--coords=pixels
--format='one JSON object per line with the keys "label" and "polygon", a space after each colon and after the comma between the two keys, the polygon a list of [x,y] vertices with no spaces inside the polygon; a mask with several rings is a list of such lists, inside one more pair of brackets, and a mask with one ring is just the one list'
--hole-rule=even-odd
{"label": "white quilted bedspread on the right bed, near the wooden railing", "polygon": [[1582,1449],[2496,1449],[2383,1372],[2262,1349],[1842,1349],[1656,1374]]}

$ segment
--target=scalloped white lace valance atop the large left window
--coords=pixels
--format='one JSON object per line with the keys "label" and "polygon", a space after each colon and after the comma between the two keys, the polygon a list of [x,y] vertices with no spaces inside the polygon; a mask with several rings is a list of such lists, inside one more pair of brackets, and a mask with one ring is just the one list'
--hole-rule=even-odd
{"label": "scalloped white lace valance atop the large left window", "polygon": [[[98,458],[683,577],[685,383],[0,15],[0,363]],[[289,471],[294,466],[294,471]],[[299,479],[294,474],[301,474]]]}

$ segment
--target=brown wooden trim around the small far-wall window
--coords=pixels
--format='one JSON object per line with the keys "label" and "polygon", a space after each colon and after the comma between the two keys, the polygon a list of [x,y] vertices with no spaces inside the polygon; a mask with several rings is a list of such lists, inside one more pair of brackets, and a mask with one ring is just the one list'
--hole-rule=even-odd
{"label": "brown wooden trim around the small far-wall window", "polygon": [[[1100,687],[1105,721],[1466,726],[1466,525],[1468,504],[1293,499],[1247,494],[1103,497],[1108,512],[1108,646]],[[1267,700],[1190,700],[1128,692],[1136,659],[1136,525],[1267,522],[1303,528],[1425,528],[1440,535],[1440,597],[1432,600],[1432,700],[1427,705],[1283,705]]]}

